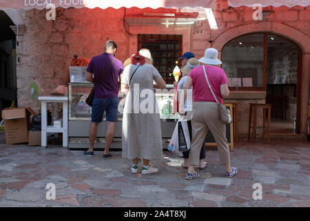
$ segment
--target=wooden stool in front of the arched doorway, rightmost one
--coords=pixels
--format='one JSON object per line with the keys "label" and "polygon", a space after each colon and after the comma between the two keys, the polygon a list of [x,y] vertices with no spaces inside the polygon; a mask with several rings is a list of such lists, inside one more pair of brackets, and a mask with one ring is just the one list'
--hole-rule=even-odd
{"label": "wooden stool in front of the arched doorway, rightmost one", "polygon": [[[262,108],[262,126],[256,126],[256,113],[257,108]],[[251,126],[251,119],[252,119],[252,109],[253,111],[253,126]],[[267,117],[268,117],[268,125],[266,127],[266,111],[268,110]],[[262,129],[262,140],[265,140],[265,133],[267,129],[267,136],[268,136],[268,143],[270,142],[270,119],[271,119],[271,104],[250,104],[249,108],[249,131],[247,135],[247,140],[249,141],[250,138],[250,131],[252,129],[252,142],[254,142],[254,138],[256,138],[256,129]]]}

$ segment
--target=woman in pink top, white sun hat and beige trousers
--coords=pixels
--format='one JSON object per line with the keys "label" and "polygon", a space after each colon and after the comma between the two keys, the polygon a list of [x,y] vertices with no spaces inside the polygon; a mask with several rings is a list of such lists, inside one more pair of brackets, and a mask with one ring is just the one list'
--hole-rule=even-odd
{"label": "woman in pink top, white sun hat and beige trousers", "polygon": [[[199,165],[200,147],[209,129],[216,140],[220,162],[225,166],[226,176],[232,177],[237,174],[237,169],[230,166],[226,125],[220,119],[218,104],[216,104],[216,99],[220,104],[223,104],[223,97],[229,96],[227,76],[222,68],[216,67],[216,65],[222,64],[222,61],[218,59],[218,50],[215,48],[207,48],[205,56],[199,61],[203,65],[194,68],[189,73],[183,86],[185,90],[184,99],[187,96],[186,90],[193,86],[192,145],[189,151],[189,166],[185,178],[192,180],[199,177],[194,166]],[[207,79],[214,90],[216,99],[209,89]],[[184,103],[181,101],[180,104],[180,115],[185,115],[185,108],[182,106]]]}

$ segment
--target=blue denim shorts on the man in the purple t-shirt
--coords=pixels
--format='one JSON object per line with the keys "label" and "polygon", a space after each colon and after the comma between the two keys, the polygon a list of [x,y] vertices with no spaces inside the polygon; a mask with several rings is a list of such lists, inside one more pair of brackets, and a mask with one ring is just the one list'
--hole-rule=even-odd
{"label": "blue denim shorts on the man in the purple t-shirt", "polygon": [[116,122],[118,102],[118,97],[94,98],[92,101],[92,122],[102,122],[104,113],[106,113],[107,122]]}

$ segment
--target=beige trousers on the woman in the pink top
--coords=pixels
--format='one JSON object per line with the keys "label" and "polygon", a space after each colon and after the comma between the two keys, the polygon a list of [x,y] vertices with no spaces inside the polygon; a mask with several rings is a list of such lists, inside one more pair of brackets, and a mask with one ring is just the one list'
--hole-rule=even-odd
{"label": "beige trousers on the woman in the pink top", "polygon": [[223,164],[230,163],[226,125],[220,120],[218,104],[214,102],[194,102],[192,113],[192,146],[189,151],[189,165],[199,165],[201,145],[210,129],[218,146],[218,155]]}

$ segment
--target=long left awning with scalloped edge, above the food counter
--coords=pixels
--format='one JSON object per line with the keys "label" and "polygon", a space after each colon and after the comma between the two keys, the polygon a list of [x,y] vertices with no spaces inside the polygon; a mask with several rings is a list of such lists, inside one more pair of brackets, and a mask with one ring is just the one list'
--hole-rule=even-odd
{"label": "long left awning with scalloped edge, above the food counter", "polygon": [[45,9],[48,4],[61,8],[215,8],[216,0],[0,0],[0,9]]}

